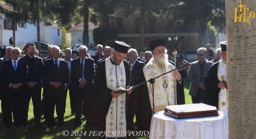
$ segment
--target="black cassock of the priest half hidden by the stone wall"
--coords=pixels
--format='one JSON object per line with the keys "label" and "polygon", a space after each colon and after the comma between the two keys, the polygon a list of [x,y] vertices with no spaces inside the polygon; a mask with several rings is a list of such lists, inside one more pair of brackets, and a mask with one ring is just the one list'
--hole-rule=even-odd
{"label": "black cassock of the priest half hidden by the stone wall", "polygon": [[204,86],[207,92],[208,105],[218,108],[220,88],[217,87],[219,61],[214,63],[205,75]]}

